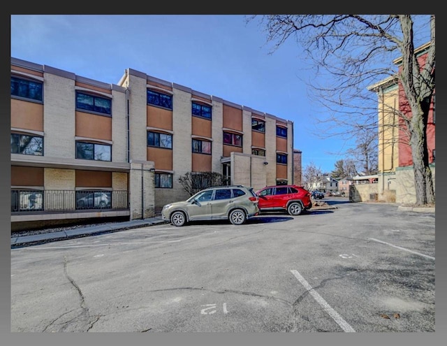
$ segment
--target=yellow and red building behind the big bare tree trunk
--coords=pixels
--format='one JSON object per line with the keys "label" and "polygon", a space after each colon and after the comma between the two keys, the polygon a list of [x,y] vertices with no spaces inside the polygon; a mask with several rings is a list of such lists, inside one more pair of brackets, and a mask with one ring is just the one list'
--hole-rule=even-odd
{"label": "yellow and red building behind the big bare tree trunk", "polygon": [[[430,43],[416,50],[420,66],[423,66]],[[394,64],[401,68],[402,58],[395,59]],[[414,203],[413,159],[409,138],[404,131],[402,117],[411,117],[408,101],[397,77],[392,76],[371,85],[369,88],[377,94],[379,100],[379,155],[378,188],[379,200],[397,203]],[[435,180],[435,99],[433,94],[427,122],[428,159]]]}

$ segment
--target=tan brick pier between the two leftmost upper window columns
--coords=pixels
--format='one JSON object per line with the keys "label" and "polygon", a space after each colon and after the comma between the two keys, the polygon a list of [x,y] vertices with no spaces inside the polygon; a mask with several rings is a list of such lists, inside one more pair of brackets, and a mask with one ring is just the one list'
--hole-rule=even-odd
{"label": "tan brick pier between the two leftmost upper window columns", "polygon": [[75,158],[75,81],[45,73],[45,157]]}

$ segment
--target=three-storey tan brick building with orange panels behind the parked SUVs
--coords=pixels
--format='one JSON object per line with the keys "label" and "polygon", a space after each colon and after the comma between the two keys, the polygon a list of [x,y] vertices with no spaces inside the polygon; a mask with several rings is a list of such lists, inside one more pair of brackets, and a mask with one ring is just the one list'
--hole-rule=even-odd
{"label": "three-storey tan brick building with orange panels behind the parked SUVs", "polygon": [[293,122],[126,69],[117,84],[11,58],[11,224],[154,216],[178,178],[293,183]]}

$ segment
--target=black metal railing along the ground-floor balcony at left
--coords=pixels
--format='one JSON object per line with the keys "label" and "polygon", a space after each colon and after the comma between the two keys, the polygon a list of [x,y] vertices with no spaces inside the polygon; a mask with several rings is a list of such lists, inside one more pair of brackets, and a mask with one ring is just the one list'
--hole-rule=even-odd
{"label": "black metal railing along the ground-floor balcony at left", "polygon": [[11,190],[11,213],[129,209],[127,191]]}

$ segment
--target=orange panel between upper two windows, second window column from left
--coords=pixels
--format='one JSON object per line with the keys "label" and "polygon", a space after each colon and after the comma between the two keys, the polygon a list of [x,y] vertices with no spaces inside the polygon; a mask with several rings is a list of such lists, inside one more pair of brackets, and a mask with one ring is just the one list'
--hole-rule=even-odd
{"label": "orange panel between upper two windows, second window column from left", "polygon": [[112,140],[112,118],[76,112],[76,136]]}

